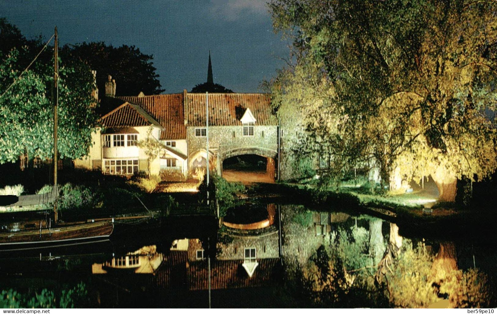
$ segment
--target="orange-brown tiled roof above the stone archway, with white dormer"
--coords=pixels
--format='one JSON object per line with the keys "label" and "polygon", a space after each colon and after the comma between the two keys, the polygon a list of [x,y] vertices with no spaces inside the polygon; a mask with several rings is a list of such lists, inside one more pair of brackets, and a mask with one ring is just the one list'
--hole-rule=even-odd
{"label": "orange-brown tiled roof above the stone archway, with white dormer", "polygon": [[[205,125],[205,95],[186,94],[188,126]],[[276,125],[268,94],[209,94],[209,125],[242,125],[240,119],[250,108],[256,125]]]}

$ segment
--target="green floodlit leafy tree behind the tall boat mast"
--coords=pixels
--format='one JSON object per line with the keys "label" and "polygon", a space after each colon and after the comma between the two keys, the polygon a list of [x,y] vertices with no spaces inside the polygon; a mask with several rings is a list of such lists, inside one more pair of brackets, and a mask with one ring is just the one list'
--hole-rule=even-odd
{"label": "green floodlit leafy tree behind the tall boat mast", "polygon": [[[53,53],[45,50],[18,79],[25,67],[18,61],[33,55],[30,49],[18,47],[0,55],[0,163],[15,162],[25,152],[53,157]],[[80,158],[88,153],[98,118],[92,108],[93,78],[81,62],[59,64],[58,152],[61,158]]]}

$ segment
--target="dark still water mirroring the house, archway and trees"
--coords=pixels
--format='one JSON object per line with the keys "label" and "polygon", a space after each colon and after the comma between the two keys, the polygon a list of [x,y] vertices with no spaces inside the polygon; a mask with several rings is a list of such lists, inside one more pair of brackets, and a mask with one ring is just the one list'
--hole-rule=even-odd
{"label": "dark still water mirroring the house, archway and trees", "polygon": [[206,307],[210,258],[214,307],[495,305],[496,251],[487,245],[483,257],[485,242],[406,236],[393,221],[346,210],[236,212],[169,217],[98,245],[2,252],[3,287],[83,281],[96,307]]}

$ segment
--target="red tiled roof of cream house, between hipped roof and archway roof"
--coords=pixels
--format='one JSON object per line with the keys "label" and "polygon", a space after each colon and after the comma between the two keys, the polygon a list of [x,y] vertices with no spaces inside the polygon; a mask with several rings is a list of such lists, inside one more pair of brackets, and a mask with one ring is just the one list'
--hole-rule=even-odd
{"label": "red tiled roof of cream house, between hipped roof and archway roof", "polygon": [[161,140],[186,138],[182,93],[141,97],[122,96],[117,98],[124,102],[139,105],[159,121],[164,127],[161,132]]}

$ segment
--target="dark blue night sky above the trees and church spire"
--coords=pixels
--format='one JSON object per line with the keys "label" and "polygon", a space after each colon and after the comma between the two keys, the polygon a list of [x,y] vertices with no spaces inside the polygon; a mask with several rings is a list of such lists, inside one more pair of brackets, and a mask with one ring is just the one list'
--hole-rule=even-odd
{"label": "dark blue night sky above the trees and church spire", "polygon": [[135,45],[154,56],[165,93],[204,83],[209,49],[214,83],[240,93],[260,91],[288,55],[264,0],[0,0],[0,17],[28,38],[57,25],[61,44]]}

